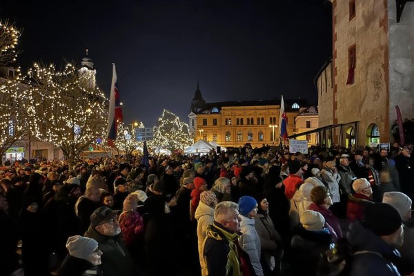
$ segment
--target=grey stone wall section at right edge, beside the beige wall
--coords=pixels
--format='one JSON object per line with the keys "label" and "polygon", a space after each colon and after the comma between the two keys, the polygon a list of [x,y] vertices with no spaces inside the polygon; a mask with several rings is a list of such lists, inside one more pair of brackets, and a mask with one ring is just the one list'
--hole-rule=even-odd
{"label": "grey stone wall section at right edge, beside the beige wall", "polygon": [[395,106],[403,118],[414,118],[414,3],[407,2],[397,23],[395,1],[388,0],[389,41],[389,122],[397,119]]}

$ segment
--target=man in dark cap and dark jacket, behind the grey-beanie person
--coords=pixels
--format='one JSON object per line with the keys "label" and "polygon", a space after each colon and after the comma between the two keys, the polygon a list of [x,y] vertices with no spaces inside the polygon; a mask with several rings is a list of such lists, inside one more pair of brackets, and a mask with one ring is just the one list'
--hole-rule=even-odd
{"label": "man in dark cap and dark jacket, behind the grey-beanie person", "polygon": [[85,237],[98,242],[102,251],[101,270],[103,275],[132,275],[132,259],[121,237],[117,215],[119,210],[99,207],[90,215],[90,226]]}

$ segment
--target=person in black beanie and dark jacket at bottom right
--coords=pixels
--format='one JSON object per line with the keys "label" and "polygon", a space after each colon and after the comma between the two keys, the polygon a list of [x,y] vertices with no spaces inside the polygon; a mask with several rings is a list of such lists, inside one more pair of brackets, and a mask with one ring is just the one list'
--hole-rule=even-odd
{"label": "person in black beanie and dark jacket at bottom right", "polygon": [[402,246],[402,217],[390,204],[367,205],[364,219],[355,221],[346,235],[353,251],[351,275],[400,276],[394,262],[400,259],[396,248]]}

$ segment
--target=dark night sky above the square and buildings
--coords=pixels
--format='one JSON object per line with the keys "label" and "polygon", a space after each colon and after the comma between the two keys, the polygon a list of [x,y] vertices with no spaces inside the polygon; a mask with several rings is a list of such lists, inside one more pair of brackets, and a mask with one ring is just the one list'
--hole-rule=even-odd
{"label": "dark night sky above the square and buildings", "polygon": [[89,47],[109,95],[117,64],[124,121],[155,124],[166,108],[188,121],[197,81],[206,101],[302,97],[331,56],[331,7],[324,0],[3,1],[0,18],[23,34],[23,72],[32,61],[80,61]]}

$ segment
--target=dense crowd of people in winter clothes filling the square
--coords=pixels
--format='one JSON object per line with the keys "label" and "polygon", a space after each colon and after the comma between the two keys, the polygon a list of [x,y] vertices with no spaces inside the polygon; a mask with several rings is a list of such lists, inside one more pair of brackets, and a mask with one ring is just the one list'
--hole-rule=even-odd
{"label": "dense crowd of people in winter clothes filling the square", "polygon": [[15,161],[1,275],[411,275],[412,150]]}

